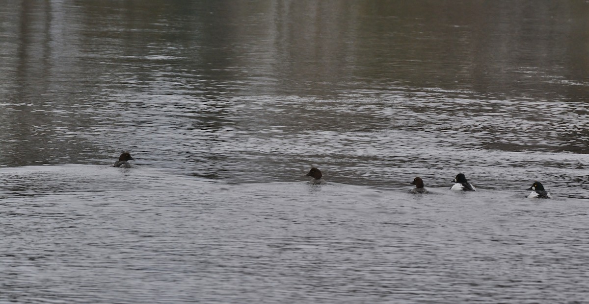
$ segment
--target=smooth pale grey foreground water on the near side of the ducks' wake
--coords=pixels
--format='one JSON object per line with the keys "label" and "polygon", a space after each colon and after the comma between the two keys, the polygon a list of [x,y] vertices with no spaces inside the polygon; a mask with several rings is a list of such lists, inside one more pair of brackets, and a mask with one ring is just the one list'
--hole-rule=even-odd
{"label": "smooth pale grey foreground water on the near side of the ducks' wake", "polygon": [[[227,185],[96,165],[1,176],[5,300],[584,300],[583,200]],[[53,191],[18,188],[45,180]]]}

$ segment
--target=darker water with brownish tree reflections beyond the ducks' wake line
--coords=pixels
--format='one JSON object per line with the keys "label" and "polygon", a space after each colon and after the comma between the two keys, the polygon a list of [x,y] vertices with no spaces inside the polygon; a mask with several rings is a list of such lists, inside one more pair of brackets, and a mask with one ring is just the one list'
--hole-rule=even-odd
{"label": "darker water with brownish tree reflections beyond the ducks' wake line", "polygon": [[292,180],[314,164],[394,187],[416,174],[399,163],[476,173],[533,158],[534,177],[517,178],[550,180],[557,158],[586,161],[567,153],[589,140],[588,6],[15,3],[1,11],[0,161],[105,163],[131,150],[229,181]]}

